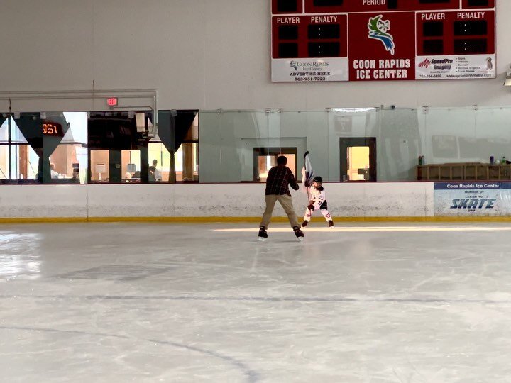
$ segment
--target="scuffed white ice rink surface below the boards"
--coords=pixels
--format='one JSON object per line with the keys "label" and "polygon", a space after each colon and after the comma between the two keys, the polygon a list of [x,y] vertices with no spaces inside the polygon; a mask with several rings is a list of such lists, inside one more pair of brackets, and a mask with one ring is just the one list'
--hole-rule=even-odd
{"label": "scuffed white ice rink surface below the boards", "polygon": [[0,226],[0,382],[510,382],[511,225]]}

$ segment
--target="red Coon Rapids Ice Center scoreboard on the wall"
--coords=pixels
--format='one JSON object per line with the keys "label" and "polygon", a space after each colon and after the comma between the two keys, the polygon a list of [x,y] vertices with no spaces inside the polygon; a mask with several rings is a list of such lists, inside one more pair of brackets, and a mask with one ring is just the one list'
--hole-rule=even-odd
{"label": "red Coon Rapids Ice Center scoreboard on the wall", "polygon": [[496,0],[271,0],[273,82],[495,78]]}

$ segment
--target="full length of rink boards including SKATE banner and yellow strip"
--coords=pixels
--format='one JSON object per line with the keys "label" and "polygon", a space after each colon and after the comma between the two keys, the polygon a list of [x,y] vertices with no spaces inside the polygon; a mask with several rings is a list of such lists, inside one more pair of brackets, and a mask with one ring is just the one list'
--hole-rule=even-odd
{"label": "full length of rink boards including SKATE banner and yellow strip", "polygon": [[[441,185],[449,184],[326,183],[325,189],[337,220],[509,216],[505,208],[511,201],[509,184],[498,191],[495,187],[471,191],[469,183],[461,189],[442,190]],[[264,210],[264,188],[264,184],[6,185],[0,188],[0,221],[257,221]],[[477,204],[470,200],[475,191],[480,193]],[[307,196],[293,191],[293,199],[302,216]],[[456,209],[449,209],[454,200]],[[476,209],[468,209],[474,204]],[[285,217],[280,206],[275,217]]]}

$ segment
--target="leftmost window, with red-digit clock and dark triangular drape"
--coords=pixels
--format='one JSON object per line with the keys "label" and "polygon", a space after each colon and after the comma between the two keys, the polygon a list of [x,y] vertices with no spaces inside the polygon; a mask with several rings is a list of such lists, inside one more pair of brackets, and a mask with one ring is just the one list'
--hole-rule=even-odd
{"label": "leftmost window, with red-digit clock and dark triangular drape", "polygon": [[86,116],[62,112],[0,116],[0,182],[85,182]]}

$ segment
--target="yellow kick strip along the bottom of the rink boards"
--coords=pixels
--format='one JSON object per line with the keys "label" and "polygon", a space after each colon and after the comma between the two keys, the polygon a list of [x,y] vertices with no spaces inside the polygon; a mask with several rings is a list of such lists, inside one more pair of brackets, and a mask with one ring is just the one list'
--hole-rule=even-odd
{"label": "yellow kick strip along the bottom of the rink boards", "polygon": [[[511,216],[473,217],[334,217],[336,222],[511,222]],[[154,222],[154,223],[259,223],[260,217],[23,217],[0,218],[6,223],[108,223],[108,222]],[[286,217],[273,217],[272,222],[287,222]]]}

